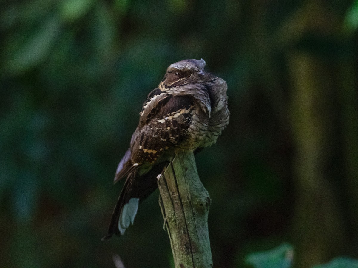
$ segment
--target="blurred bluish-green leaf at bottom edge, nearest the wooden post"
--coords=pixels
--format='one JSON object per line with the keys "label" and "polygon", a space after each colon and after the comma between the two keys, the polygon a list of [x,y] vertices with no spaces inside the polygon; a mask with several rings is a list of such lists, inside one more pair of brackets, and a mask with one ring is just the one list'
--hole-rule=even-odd
{"label": "blurred bluish-green leaf at bottom edge, nearest the wooden post", "polygon": [[292,245],[284,243],[270,251],[252,253],[246,257],[245,262],[255,268],[289,268],[293,255]]}

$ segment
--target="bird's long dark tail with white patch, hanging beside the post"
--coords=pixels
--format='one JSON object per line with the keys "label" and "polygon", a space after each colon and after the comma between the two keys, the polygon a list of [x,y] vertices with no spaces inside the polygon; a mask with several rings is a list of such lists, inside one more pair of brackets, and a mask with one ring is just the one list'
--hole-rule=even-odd
{"label": "bird's long dark tail with white patch, hanging beside the post", "polygon": [[137,176],[137,170],[128,175],[113,210],[108,235],[102,240],[110,239],[113,234],[121,236],[129,225],[133,224],[138,205],[158,187],[156,177],[163,171],[166,164],[166,162],[160,163],[140,177]]}

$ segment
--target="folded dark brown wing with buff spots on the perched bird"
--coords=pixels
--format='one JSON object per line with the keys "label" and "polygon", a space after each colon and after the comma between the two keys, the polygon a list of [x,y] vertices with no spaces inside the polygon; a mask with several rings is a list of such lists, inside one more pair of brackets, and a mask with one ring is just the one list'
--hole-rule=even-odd
{"label": "folded dark brown wing with buff spots on the perched bird", "polygon": [[165,150],[185,139],[195,107],[190,95],[149,95],[131,147],[118,165],[115,182],[144,163],[154,163]]}

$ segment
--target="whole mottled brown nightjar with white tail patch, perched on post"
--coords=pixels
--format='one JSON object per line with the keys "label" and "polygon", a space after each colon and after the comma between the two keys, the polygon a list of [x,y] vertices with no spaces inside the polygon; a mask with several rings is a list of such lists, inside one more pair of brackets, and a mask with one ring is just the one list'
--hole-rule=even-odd
{"label": "whole mottled brown nightjar with white tail patch, perched on post", "polygon": [[177,150],[198,152],[214,144],[229,123],[226,82],[204,71],[205,61],[171,64],[139,113],[130,148],[118,164],[114,182],[126,177],[108,235],[124,234],[138,205],[157,187],[157,176]]}

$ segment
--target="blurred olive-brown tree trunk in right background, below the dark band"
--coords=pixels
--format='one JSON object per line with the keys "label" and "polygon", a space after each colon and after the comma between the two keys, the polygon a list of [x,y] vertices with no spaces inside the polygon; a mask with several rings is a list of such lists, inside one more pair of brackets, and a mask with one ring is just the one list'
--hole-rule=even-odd
{"label": "blurred olive-brown tree trunk in right background, below the dark band", "polygon": [[333,74],[323,60],[295,51],[288,57],[292,81],[297,267],[311,267],[343,254],[347,236],[332,184]]}

